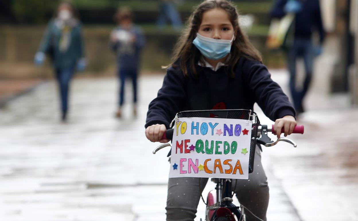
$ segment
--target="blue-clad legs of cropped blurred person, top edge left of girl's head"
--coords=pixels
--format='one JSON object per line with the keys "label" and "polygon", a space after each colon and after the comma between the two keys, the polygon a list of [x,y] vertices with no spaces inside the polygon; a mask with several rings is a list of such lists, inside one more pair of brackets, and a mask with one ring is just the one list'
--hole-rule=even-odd
{"label": "blue-clad legs of cropped blurred person, top edge left of girl's head", "polygon": [[175,30],[181,30],[183,27],[180,14],[175,7],[173,0],[160,0],[160,11],[157,20],[157,26],[159,29],[163,29],[166,25],[166,21],[169,20]]}

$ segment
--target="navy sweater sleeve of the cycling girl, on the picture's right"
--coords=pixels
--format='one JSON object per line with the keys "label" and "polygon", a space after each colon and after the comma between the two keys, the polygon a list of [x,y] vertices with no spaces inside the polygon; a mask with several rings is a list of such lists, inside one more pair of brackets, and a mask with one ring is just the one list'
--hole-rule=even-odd
{"label": "navy sweater sleeve of the cycling girl, on the picture's right", "polygon": [[257,61],[243,62],[244,78],[250,93],[263,112],[272,121],[296,112],[281,87],[271,79],[266,66]]}

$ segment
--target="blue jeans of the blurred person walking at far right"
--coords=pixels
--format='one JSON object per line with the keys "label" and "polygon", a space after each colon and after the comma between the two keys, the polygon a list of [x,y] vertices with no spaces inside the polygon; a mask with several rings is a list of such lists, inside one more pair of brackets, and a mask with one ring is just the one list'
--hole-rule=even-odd
{"label": "blue jeans of the blurred person walking at far right", "polygon": [[[296,88],[296,60],[302,57],[305,64],[305,79],[300,89]],[[314,51],[310,38],[295,38],[294,44],[288,53],[288,66],[290,71],[290,90],[295,109],[303,111],[303,99],[308,91],[313,72]]]}

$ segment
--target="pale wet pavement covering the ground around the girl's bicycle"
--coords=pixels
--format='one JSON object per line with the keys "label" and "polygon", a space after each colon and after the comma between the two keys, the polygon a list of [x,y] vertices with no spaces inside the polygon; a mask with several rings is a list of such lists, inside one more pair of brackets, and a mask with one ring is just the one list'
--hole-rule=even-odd
{"label": "pale wet pavement covering the ground around the girl's bicycle", "polygon": [[[272,73],[286,85],[285,71]],[[147,105],[162,79],[141,77],[137,118],[130,93],[123,119],[113,117],[114,78],[74,80],[67,123],[59,121],[54,82],[0,109],[0,220],[165,220],[167,151],[151,154],[157,144],[144,136]],[[263,151],[268,220],[358,220],[358,110],[346,96],[313,92],[299,120],[305,135],[292,136],[299,147]],[[209,182],[203,196],[213,187]],[[196,220],[204,211],[200,202]]]}

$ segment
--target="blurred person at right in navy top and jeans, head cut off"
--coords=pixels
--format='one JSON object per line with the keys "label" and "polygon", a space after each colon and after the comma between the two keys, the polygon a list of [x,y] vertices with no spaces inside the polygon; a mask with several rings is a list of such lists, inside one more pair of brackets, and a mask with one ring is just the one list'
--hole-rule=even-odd
{"label": "blurred person at right in navy top and jeans, head cut off", "polygon": [[[272,18],[295,14],[294,39],[288,47],[287,59],[290,72],[290,90],[297,115],[304,112],[303,99],[308,91],[313,72],[314,58],[322,53],[324,30],[319,0],[277,0],[271,11]],[[313,32],[319,34],[319,44],[314,45]],[[300,90],[296,88],[296,59],[303,58],[305,78]]]}

